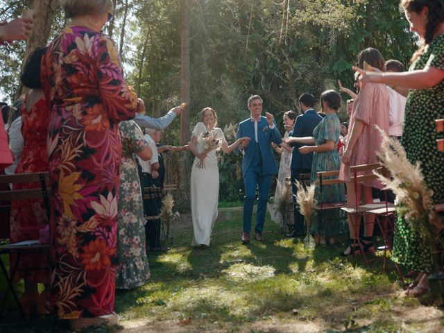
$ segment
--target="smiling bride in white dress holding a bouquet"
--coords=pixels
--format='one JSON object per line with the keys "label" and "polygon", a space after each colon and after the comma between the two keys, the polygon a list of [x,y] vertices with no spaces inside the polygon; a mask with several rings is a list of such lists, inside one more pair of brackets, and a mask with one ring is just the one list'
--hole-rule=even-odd
{"label": "smiling bride in white dress holding a bouquet", "polygon": [[[216,148],[220,147],[225,153],[231,153],[244,140],[248,140],[248,137],[242,137],[228,146],[221,128],[216,125],[216,112],[212,108],[203,108],[190,144],[190,151],[196,156],[191,167],[191,215],[194,229],[191,246],[199,248],[210,246],[210,236],[218,214],[219,167]],[[207,153],[204,151],[203,135],[211,135],[218,140],[217,146]]]}

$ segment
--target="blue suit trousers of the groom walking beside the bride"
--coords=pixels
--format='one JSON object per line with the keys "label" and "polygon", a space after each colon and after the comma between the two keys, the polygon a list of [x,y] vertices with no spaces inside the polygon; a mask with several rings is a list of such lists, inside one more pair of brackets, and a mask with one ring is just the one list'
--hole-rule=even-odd
{"label": "blue suit trousers of the groom walking beside the bride", "polygon": [[244,176],[245,196],[244,196],[244,232],[251,231],[251,216],[253,215],[253,205],[256,198],[256,187],[259,189],[257,199],[257,214],[255,232],[262,234],[264,229],[266,203],[268,202],[268,191],[270,190],[273,175],[262,176],[262,167],[248,168]]}

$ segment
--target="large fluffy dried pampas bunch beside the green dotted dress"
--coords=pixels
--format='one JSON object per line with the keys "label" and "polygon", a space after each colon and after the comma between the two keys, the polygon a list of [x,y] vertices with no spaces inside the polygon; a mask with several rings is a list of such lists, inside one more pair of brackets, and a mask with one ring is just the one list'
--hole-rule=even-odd
{"label": "large fluffy dried pampas bunch beside the green dotted dress", "polygon": [[427,189],[420,163],[411,164],[400,142],[388,137],[381,128],[376,128],[382,136],[381,151],[377,156],[391,173],[391,178],[375,174],[386,189],[391,189],[396,195],[398,212],[404,214],[411,228],[434,243],[444,224],[433,210],[433,193]]}

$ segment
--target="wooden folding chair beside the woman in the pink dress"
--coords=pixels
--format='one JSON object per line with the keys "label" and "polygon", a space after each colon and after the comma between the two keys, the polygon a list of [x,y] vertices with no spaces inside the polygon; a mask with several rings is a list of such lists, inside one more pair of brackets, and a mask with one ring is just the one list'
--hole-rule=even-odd
{"label": "wooden folding chair beside the woman in the pink dress", "polygon": [[[355,192],[357,192],[358,184],[366,181],[366,180],[375,180],[377,179],[377,176],[373,173],[373,171],[376,171],[377,173],[383,173],[384,168],[381,167],[379,163],[375,164],[362,164],[357,165],[354,167],[350,167],[350,173],[352,173],[352,176],[350,176],[350,180],[352,180]],[[370,173],[371,172],[371,173]],[[361,174],[364,173],[364,174]],[[386,193],[385,193],[386,196]],[[385,271],[386,268],[386,255],[387,252],[391,252],[391,237],[393,234],[393,214],[395,212],[395,205],[393,203],[389,203],[387,200],[384,200],[383,202],[379,203],[367,203],[366,205],[360,205],[360,203],[355,201],[355,205],[353,207],[342,207],[341,210],[344,210],[349,215],[355,216],[355,221],[357,221],[358,217],[364,218],[364,216],[368,214],[375,214],[375,223],[379,226],[379,230],[381,230],[382,239],[384,241],[384,246],[376,248],[375,250],[384,250],[383,255],[383,269]],[[361,223],[359,219],[359,223]],[[365,221],[364,221],[365,223]],[[365,225],[365,224],[364,224]],[[355,243],[353,246],[356,245],[356,243],[359,245],[359,248],[361,248],[361,254],[364,257],[364,261],[368,265],[369,262],[375,261],[369,260],[367,258],[366,253],[364,252],[363,244],[361,243],[361,240],[359,239],[359,224],[355,223],[353,225],[353,228],[355,230]],[[355,253],[352,253],[353,257],[355,256]]]}

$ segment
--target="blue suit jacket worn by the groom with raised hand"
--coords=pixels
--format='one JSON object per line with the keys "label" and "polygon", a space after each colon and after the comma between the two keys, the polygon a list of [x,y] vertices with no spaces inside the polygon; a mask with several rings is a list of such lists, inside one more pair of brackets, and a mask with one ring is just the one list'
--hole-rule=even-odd
{"label": "blue suit jacket worn by the groom with raised hand", "polygon": [[[244,158],[242,159],[242,176],[245,177],[248,168],[253,161],[256,145],[255,125],[253,121],[251,121],[251,118],[239,123],[236,137],[237,139],[239,139],[239,137],[250,137],[250,143],[244,149],[245,153]],[[276,160],[273,155],[271,142],[281,144],[282,137],[278,128],[276,127],[276,124],[273,130],[271,130],[268,126],[268,122],[266,121],[266,117],[261,116],[261,120],[259,123],[257,123],[257,144],[262,155],[262,176],[278,173],[278,165],[276,164]]]}

